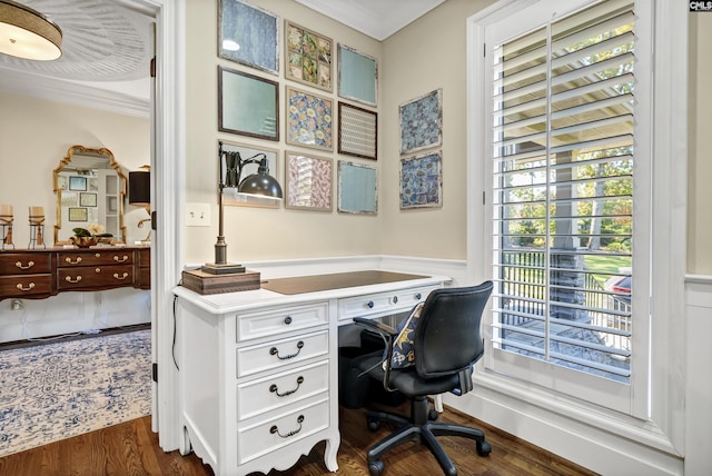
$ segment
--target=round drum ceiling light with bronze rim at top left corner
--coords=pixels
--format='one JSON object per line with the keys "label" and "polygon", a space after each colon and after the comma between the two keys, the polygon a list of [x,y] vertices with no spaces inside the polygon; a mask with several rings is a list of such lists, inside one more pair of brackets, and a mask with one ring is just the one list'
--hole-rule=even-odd
{"label": "round drum ceiling light with bronze rim at top left corner", "polygon": [[39,11],[0,0],[0,53],[49,61],[62,56],[62,30]]}

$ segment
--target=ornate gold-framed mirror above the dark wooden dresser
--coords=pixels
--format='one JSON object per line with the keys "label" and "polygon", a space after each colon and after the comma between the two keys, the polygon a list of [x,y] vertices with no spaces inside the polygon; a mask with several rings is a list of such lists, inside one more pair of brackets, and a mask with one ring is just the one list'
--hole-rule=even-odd
{"label": "ornate gold-framed mirror above the dark wooden dresser", "polygon": [[[106,148],[71,146],[53,172],[57,197],[55,245],[70,245],[73,228],[97,224],[112,244],[126,244],[123,198],[127,179]],[[62,226],[66,224],[66,226]]]}

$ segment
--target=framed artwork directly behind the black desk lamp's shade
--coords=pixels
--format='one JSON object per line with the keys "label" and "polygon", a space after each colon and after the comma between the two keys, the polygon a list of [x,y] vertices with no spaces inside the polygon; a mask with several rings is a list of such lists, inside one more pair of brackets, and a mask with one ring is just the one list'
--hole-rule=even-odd
{"label": "framed artwork directly behind the black desk lamp's shade", "polygon": [[[263,158],[266,158],[268,173],[275,179],[279,180],[279,163],[276,150],[266,149],[264,147],[246,146],[244,143],[230,143],[225,141],[222,141],[222,150],[228,152],[239,152],[243,160],[249,160],[251,158],[254,158],[255,160],[260,160]],[[222,159],[222,170],[227,172],[227,163],[225,163],[225,158]],[[240,180],[251,176],[253,173],[257,173],[258,168],[259,162],[246,163],[243,167]],[[225,180],[225,177],[222,179]],[[238,194],[237,188],[235,187],[226,187],[225,189],[222,189],[224,205],[231,205],[236,207],[279,208],[280,202],[281,200],[275,200],[274,198]]]}

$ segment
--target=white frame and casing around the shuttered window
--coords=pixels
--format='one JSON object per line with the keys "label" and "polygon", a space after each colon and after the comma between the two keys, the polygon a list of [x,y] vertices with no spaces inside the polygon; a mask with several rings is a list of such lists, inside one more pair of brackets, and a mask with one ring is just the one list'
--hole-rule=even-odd
{"label": "white frame and casing around the shuttered window", "polygon": [[[492,166],[488,143],[491,139],[490,125],[486,113],[490,107],[490,90],[487,83],[485,51],[485,30],[487,27],[507,19],[512,31],[521,28],[516,24],[516,13],[527,7],[541,8],[530,11],[527,17],[530,29],[535,28],[537,20],[550,19],[547,7],[556,7],[560,13],[595,3],[594,0],[576,0],[572,2],[556,2],[555,0],[501,0],[492,7],[473,16],[467,22],[467,137],[468,149],[468,208],[467,230],[467,272],[474,280],[488,279],[492,276]],[[684,379],[675,371],[683,366],[682,347],[684,341],[684,264],[685,264],[685,180],[686,180],[686,11],[682,7],[666,4],[664,0],[636,1],[636,23],[644,22],[642,34],[650,40],[650,49],[654,46],[654,62],[652,53],[641,58],[644,66],[636,63],[636,77],[646,75],[645,81],[651,83],[655,79],[654,88],[647,92],[651,100],[645,102],[644,109],[637,110],[636,116],[651,118],[649,137],[642,146],[646,148],[650,167],[635,171],[636,180],[647,180],[651,189],[646,194],[650,198],[647,210],[639,208],[646,204],[636,205],[635,214],[650,215],[651,234],[646,254],[654,260],[639,259],[634,272],[639,279],[650,280],[650,295],[653,298],[637,296],[634,303],[637,309],[646,310],[646,318],[641,319],[641,327],[634,330],[633,343],[639,357],[645,363],[633,368],[636,381],[630,391],[616,394],[621,388],[605,389],[601,393],[603,400],[596,400],[595,406],[603,414],[613,411],[616,417],[621,413],[627,424],[637,429],[650,425],[662,427],[663,432],[673,435],[680,433],[682,423],[672,415],[680,411],[684,400],[682,396]],[[537,18],[537,13],[538,18]],[[655,17],[653,18],[653,11]],[[545,18],[546,17],[546,18]],[[655,22],[653,22],[655,19]],[[654,24],[654,28],[653,28]],[[639,27],[636,27],[637,29]],[[522,31],[520,29],[520,31]],[[674,34],[672,34],[674,32]],[[636,32],[636,34],[639,34]],[[514,34],[512,34],[514,36]],[[644,40],[645,41],[645,40]],[[636,42],[637,44],[637,42]],[[637,88],[637,86],[636,86]],[[636,95],[637,96],[637,95]],[[652,105],[655,105],[653,107]],[[642,153],[636,138],[636,156]],[[671,158],[675,158],[671,160]],[[636,166],[640,168],[640,166]],[[644,200],[639,200],[644,201]],[[482,206],[479,206],[482,204]],[[654,217],[654,219],[653,219]],[[637,246],[637,245],[636,245]],[[645,262],[639,262],[645,261]],[[492,313],[487,313],[492,316]],[[485,325],[492,324],[491,320]],[[645,327],[647,327],[645,329]],[[485,329],[483,329],[485,330]],[[485,338],[491,338],[487,326]],[[571,381],[566,375],[561,375],[553,366],[546,369],[524,368],[520,376],[506,375],[492,369],[493,360],[502,365],[506,357],[493,349],[488,343],[485,360],[477,368],[478,383],[485,387],[506,391],[530,404],[541,405],[563,414],[576,415],[583,420],[595,419],[589,411],[592,406],[572,397],[577,393],[589,393],[585,381]],[[518,369],[521,361],[507,363],[512,369]],[[505,367],[506,368],[506,367]],[[566,374],[566,373],[564,373]],[[524,377],[522,377],[524,376]],[[597,379],[596,381],[602,380]],[[542,385],[542,384],[555,384]],[[582,386],[583,385],[583,386]],[[614,386],[617,387],[617,386]],[[606,391],[613,390],[611,395]],[[595,400],[595,398],[593,399]],[[591,401],[591,399],[589,400]],[[601,405],[603,404],[603,405]],[[653,436],[651,436],[653,438]],[[660,442],[657,442],[660,443]]]}

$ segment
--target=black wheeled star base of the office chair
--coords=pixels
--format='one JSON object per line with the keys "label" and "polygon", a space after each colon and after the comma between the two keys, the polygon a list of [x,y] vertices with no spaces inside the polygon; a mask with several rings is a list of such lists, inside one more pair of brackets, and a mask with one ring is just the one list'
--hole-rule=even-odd
{"label": "black wheeled star base of the office chair", "polygon": [[482,430],[464,425],[431,422],[428,414],[429,403],[425,396],[413,397],[411,418],[386,411],[369,410],[367,413],[368,427],[372,430],[378,429],[380,423],[389,423],[398,428],[368,449],[367,458],[370,476],[380,476],[384,469],[380,457],[406,442],[418,442],[425,445],[433,453],[447,476],[456,476],[457,469],[441,444],[435,439],[436,436],[462,436],[474,439],[479,456],[487,456],[492,452],[492,446],[485,442],[485,435]]}

